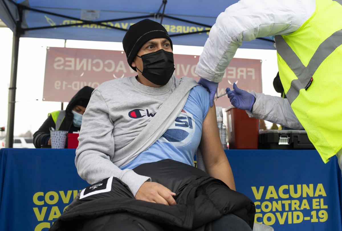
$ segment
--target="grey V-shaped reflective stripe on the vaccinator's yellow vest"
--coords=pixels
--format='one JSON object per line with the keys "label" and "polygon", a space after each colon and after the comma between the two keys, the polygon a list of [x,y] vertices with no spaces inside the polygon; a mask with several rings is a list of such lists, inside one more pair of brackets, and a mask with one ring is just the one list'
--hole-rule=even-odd
{"label": "grey V-shaped reflective stripe on the vaccinator's yellow vest", "polygon": [[276,35],[275,42],[278,54],[284,59],[298,78],[297,80],[292,80],[291,87],[286,93],[289,103],[292,104],[298,97],[299,90],[305,88],[311,81],[312,76],[320,64],[329,56],[329,54],[342,45],[342,29],[333,33],[319,45],[306,67],[298,58],[297,54],[295,54],[291,47],[286,43],[284,38],[280,35]]}

